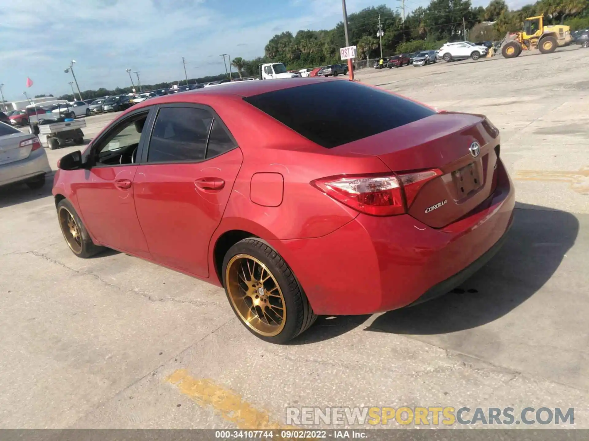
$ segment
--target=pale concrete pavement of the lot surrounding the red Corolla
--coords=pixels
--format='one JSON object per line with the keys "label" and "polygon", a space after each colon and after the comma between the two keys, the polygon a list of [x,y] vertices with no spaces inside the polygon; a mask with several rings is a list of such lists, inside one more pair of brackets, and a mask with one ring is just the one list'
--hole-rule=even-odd
{"label": "pale concrete pavement of the lot surrounding the red Corolla", "polygon": [[[406,405],[575,407],[575,427],[589,428],[588,56],[359,72],[487,114],[515,223],[461,289],[319,318],[287,346],[250,335],[219,288],[122,253],[75,258],[49,183],[0,189],[0,427],[272,426],[286,406]],[[87,138],[111,116],[88,118]],[[75,149],[48,151],[50,162]]]}

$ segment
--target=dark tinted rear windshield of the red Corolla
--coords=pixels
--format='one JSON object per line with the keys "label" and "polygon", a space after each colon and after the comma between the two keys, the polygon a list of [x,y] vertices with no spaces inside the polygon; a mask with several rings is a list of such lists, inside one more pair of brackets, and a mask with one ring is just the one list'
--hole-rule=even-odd
{"label": "dark tinted rear windshield of the red Corolla", "polygon": [[435,114],[408,99],[346,80],[280,89],[244,100],[328,149]]}

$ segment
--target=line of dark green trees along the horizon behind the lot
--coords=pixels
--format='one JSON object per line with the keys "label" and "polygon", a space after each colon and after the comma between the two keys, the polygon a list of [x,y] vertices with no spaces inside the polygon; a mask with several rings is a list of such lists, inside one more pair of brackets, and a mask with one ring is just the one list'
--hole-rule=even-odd
{"label": "line of dark green trees along the horizon behind the lot", "polygon": [[[432,0],[428,6],[413,9],[401,18],[398,10],[386,5],[370,6],[348,16],[348,32],[351,45],[358,47],[358,58],[380,57],[380,42],[377,32],[382,36],[382,55],[438,49],[448,41],[468,38],[471,41],[500,40],[507,32],[522,29],[524,18],[536,15],[545,16],[545,24],[566,24],[571,30],[589,28],[589,0],[538,0],[534,4],[510,11],[504,0],[491,0],[488,6],[472,6],[470,0]],[[346,45],[343,22],[333,29],[320,31],[300,30],[282,32],[274,35],[264,48],[264,56],[247,60],[236,57],[231,65],[240,77],[254,76],[258,66],[267,62],[281,62],[287,69],[303,69],[340,62],[339,48]],[[234,74],[235,75],[235,74]],[[193,78],[188,82],[204,83],[226,79],[226,74]],[[144,90],[169,88],[171,83],[142,85]],[[97,91],[84,91],[84,99],[100,98],[105,95],[131,93],[131,87],[104,88]],[[60,99],[72,99],[62,95]]]}

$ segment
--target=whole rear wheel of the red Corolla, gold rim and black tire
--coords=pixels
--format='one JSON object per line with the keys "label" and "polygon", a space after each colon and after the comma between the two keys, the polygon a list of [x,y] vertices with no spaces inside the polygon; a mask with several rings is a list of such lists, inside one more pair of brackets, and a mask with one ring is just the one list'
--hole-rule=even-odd
{"label": "whole rear wheel of the red Corolla, gold rim and black tire", "polygon": [[317,318],[287,263],[263,240],[243,239],[227,251],[223,285],[237,318],[267,342],[286,343]]}

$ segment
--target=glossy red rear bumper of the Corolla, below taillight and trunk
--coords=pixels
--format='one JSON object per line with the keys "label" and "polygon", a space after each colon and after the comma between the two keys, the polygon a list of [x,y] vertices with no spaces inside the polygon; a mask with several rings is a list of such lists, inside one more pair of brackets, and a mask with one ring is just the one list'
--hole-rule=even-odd
{"label": "glossy red rear bumper of the Corolla, below taillight and trunk", "polygon": [[289,263],[316,314],[402,308],[455,288],[497,252],[515,205],[511,180],[501,168],[495,192],[445,228],[409,215],[360,214],[321,238],[268,242]]}

